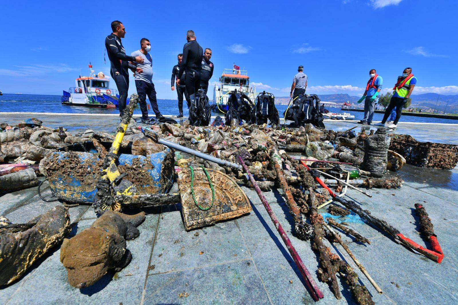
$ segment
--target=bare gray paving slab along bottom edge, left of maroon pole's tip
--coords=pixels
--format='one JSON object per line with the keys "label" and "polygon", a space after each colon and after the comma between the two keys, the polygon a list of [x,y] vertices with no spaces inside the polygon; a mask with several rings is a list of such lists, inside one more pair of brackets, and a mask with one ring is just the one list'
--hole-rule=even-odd
{"label": "bare gray paving slab along bottom edge, left of maroon pole's tip", "polygon": [[253,262],[244,260],[149,275],[143,304],[269,304],[269,299]]}

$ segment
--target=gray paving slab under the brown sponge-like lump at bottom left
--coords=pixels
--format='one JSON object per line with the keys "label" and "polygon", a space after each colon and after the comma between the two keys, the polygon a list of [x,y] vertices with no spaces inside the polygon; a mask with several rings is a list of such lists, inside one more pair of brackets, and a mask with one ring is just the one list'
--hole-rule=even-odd
{"label": "gray paving slab under the brown sponge-like lump at bottom left", "polygon": [[[67,272],[60,262],[60,249],[36,267],[8,301],[10,304],[140,304],[153,244],[158,215],[147,215],[138,228],[140,236],[127,241],[132,252],[131,263],[120,272],[109,271],[98,283],[85,289],[68,284]],[[87,229],[92,219],[77,223],[77,232]],[[75,234],[75,232],[72,232]],[[44,292],[49,292],[43,294]]]}

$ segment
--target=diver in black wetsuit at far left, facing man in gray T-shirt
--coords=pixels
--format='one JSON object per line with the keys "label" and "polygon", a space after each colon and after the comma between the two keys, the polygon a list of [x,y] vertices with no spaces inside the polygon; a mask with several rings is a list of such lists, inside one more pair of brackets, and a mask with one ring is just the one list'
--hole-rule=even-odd
{"label": "diver in black wetsuit at far left, facing man in gray T-shirt", "polygon": [[122,117],[125,109],[125,100],[127,99],[127,91],[129,90],[129,72],[127,69],[142,73],[142,69],[129,63],[129,61],[143,63],[141,56],[133,57],[125,54],[125,49],[122,46],[121,38],[125,36],[125,27],[122,22],[115,20],[111,22],[113,33],[105,38],[105,47],[107,48],[108,58],[110,60],[110,75],[113,77],[116,87],[119,91],[118,108],[119,115]]}

